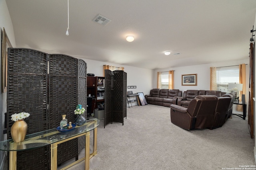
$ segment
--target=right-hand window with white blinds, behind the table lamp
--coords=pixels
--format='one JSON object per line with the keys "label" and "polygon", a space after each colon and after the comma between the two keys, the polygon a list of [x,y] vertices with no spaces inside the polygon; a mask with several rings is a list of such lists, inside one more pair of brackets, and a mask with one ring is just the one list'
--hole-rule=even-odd
{"label": "right-hand window with white blinds, behind the table lamp", "polygon": [[217,90],[231,92],[228,83],[239,83],[239,66],[228,66],[216,68]]}

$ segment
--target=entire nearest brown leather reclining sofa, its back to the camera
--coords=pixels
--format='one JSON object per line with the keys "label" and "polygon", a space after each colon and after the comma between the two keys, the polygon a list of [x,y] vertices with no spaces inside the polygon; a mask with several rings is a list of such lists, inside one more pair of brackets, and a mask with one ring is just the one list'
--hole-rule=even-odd
{"label": "entire nearest brown leather reclining sofa, its back to the camera", "polygon": [[172,104],[171,122],[187,130],[221,127],[225,123],[230,100],[230,97],[199,95],[190,101],[188,107]]}

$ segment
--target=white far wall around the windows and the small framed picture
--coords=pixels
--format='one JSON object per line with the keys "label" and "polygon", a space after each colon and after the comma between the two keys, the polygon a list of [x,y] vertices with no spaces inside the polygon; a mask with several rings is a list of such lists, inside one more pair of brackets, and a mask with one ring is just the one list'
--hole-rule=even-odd
{"label": "white far wall around the windows and the small framed picture", "polygon": [[[249,49],[248,49],[249,52]],[[158,71],[174,71],[174,89],[182,90],[182,92],[186,90],[210,90],[210,67],[220,67],[220,66],[233,66],[239,64],[247,64],[246,65],[246,101],[248,101],[248,86],[249,86],[249,57],[244,60],[236,60],[236,61],[228,61],[221,63],[210,63],[210,64],[200,64],[194,66],[183,66],[183,67],[174,67],[174,68],[166,68],[160,70],[154,70],[154,88],[157,87],[157,72]],[[197,86],[182,86],[181,78],[182,74],[197,74]]]}

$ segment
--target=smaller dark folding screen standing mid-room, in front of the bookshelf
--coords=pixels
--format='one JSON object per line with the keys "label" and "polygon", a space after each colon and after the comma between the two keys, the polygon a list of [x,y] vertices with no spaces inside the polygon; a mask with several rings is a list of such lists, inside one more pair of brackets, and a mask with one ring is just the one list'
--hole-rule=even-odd
{"label": "smaller dark folding screen standing mid-room, in front of the bookshelf", "polygon": [[123,70],[105,70],[105,119],[104,125],[122,123],[126,117],[127,73]]}

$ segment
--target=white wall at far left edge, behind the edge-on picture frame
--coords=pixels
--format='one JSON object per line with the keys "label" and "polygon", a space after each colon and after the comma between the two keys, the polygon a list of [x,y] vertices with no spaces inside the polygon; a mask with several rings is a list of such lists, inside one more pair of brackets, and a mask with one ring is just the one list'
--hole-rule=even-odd
{"label": "white wall at far left edge, behind the edge-on picture frame", "polygon": [[[2,30],[6,30],[6,34],[10,40],[10,43],[13,47],[16,47],[15,39],[14,39],[14,31],[12,26],[12,20],[10,18],[10,14],[6,5],[5,0],[0,0],[0,30],[1,30],[1,38],[2,38]],[[2,43],[0,43],[0,49],[2,49]],[[2,56],[0,50],[0,56]],[[2,59],[2,57],[0,57]],[[0,59],[0,60],[1,60]],[[2,63],[2,61],[0,62]],[[0,70],[2,70],[2,64],[0,64]],[[2,80],[0,78],[0,84],[2,84]],[[6,92],[2,93],[2,89],[0,90],[0,141],[6,140],[6,135],[3,135],[4,130],[4,113],[7,111],[6,106]],[[2,169],[3,161],[4,161],[4,154],[6,152],[0,151],[0,169]]]}

